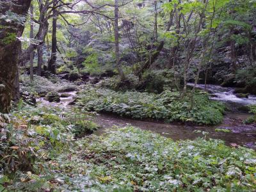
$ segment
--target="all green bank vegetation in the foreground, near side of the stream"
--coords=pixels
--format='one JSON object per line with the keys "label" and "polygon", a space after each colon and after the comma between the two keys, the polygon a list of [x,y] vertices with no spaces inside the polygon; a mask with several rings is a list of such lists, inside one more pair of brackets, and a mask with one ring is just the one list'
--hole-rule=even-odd
{"label": "all green bank vegetation in the foreground, near side of the stream", "polygon": [[63,127],[68,118],[42,108],[24,115],[26,110],[15,111],[22,119],[11,116],[1,132],[3,191],[256,189],[253,150],[205,138],[174,142],[134,127],[76,141],[72,129]]}

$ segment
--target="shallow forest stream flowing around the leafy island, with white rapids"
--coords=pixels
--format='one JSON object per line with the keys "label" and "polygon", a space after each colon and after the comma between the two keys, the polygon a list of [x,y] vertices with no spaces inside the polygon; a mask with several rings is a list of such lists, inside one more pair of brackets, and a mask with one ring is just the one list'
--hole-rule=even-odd
{"label": "shallow forest stream flowing around the leafy island, with white rapids", "polygon": [[[192,86],[193,84],[188,84]],[[198,84],[197,88],[204,89],[204,84]],[[202,133],[195,131],[209,132],[207,138],[214,138],[224,140],[227,145],[243,145],[248,148],[256,148],[256,125],[246,125],[246,120],[250,113],[239,111],[237,108],[246,106],[248,104],[256,104],[256,97],[250,95],[248,98],[236,97],[233,88],[223,88],[218,85],[207,85],[207,92],[211,93],[211,99],[220,100],[227,104],[228,110],[225,112],[225,116],[221,125],[216,126],[201,126],[191,124],[171,123],[167,124],[163,121],[150,121],[150,120],[134,120],[131,118],[120,117],[113,114],[101,113],[97,114],[93,118],[93,122],[102,127],[95,132],[95,134],[102,134],[113,126],[125,127],[126,125],[132,125],[139,127],[140,129],[157,132],[165,137],[172,138],[173,140],[187,140],[195,139],[198,136],[202,136]],[[48,102],[43,98],[38,99],[44,105],[59,106],[66,108],[70,102],[74,101],[76,92],[68,92],[69,97],[62,98],[60,103]],[[228,129],[230,132],[216,132],[215,129]]]}

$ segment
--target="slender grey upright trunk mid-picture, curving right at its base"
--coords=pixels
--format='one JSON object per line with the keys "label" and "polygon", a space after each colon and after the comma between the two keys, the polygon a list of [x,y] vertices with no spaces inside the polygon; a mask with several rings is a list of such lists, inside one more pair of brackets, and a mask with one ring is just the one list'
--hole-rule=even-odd
{"label": "slender grey upright trunk mid-picture, curving right at its base", "polygon": [[115,55],[116,55],[116,67],[118,70],[118,74],[120,76],[120,80],[124,81],[125,76],[124,72],[122,70],[122,66],[120,65],[120,54],[119,54],[119,30],[118,30],[118,0],[115,0],[115,25],[114,25],[114,31],[115,31]]}

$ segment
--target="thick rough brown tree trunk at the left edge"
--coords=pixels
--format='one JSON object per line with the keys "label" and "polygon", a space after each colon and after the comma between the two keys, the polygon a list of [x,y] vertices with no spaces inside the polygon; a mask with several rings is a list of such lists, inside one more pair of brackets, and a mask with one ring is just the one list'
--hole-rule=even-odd
{"label": "thick rough brown tree trunk at the left edge", "polygon": [[[28,13],[31,0],[2,0],[0,14],[11,11],[20,17]],[[15,92],[15,76],[18,73],[18,56],[20,42],[16,37],[20,37],[24,31],[24,24],[17,21],[6,22],[0,17],[0,112],[10,111],[10,102]]]}

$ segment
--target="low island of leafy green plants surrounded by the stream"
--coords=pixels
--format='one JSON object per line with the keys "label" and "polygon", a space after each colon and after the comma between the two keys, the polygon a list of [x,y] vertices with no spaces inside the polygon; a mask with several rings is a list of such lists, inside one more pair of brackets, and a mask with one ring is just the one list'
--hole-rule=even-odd
{"label": "low island of leafy green plants surrounded by the stream", "polygon": [[189,98],[180,101],[179,92],[165,90],[161,94],[115,92],[86,86],[79,94],[79,105],[88,111],[104,111],[131,118],[152,118],[166,122],[193,122],[214,125],[223,120],[224,106],[209,100],[206,93],[196,93],[195,108],[189,110]]}

